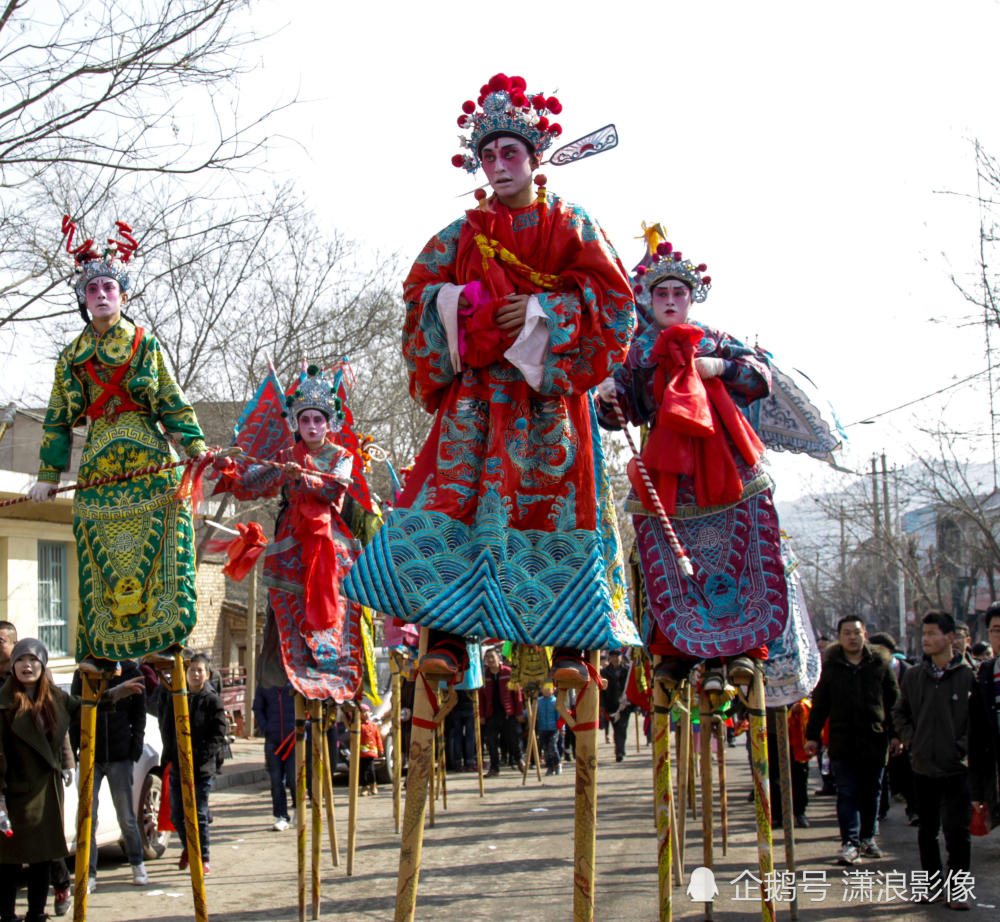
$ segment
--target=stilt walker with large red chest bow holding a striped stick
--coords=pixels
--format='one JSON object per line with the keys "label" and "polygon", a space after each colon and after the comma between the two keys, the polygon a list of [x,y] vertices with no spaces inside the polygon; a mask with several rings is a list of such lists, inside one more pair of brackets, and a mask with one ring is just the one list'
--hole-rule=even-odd
{"label": "stilt walker with large red chest bow holding a striped stick", "polygon": [[[689,320],[692,303],[707,298],[711,278],[658,230],[647,230],[648,252],[634,279],[641,328],[625,366],[598,387],[599,416],[608,428],[621,428],[626,419],[649,427],[642,455],[630,465],[633,490],[626,508],[635,524],[640,620],[660,706],[704,661],[700,692],[707,740],[712,716],[704,713],[706,706],[718,707],[734,693],[732,686],[749,688],[763,879],[771,869],[771,835],[764,684],[757,664],[785,626],[788,592],[772,484],[759,463],[764,445],[743,411],[770,393],[770,370],[759,350]],[[671,546],[671,529],[693,573]],[[666,790],[661,779],[656,787]],[[657,809],[667,815],[662,803]],[[670,830],[661,824],[659,832],[661,918],[669,918],[669,861],[662,851],[669,848]],[[709,860],[708,823],[704,837]],[[710,915],[710,907],[706,911]],[[763,894],[762,912],[773,915],[773,903]]]}

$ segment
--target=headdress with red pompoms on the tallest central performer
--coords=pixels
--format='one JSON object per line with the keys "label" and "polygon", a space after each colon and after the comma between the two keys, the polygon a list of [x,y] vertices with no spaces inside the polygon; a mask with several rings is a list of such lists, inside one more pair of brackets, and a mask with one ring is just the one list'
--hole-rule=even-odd
{"label": "headdress with red pompoms on the tallest central performer", "polygon": [[480,88],[476,102],[467,99],[462,103],[458,127],[471,131],[468,136],[459,136],[466,153],[455,154],[451,162],[475,173],[480,166],[479,148],[484,140],[496,134],[523,138],[540,157],[553,139],[562,134],[562,126],[549,119],[560,112],[562,103],[555,96],[528,94],[524,77],[496,74]]}

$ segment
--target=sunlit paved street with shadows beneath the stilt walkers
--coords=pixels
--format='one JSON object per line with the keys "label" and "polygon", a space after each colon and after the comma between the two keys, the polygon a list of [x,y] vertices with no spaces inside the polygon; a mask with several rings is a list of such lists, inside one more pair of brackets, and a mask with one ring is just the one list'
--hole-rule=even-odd
{"label": "sunlit paved street with shadows beneath the stilt walkers", "polygon": [[[254,744],[243,744],[251,746]],[[649,749],[614,761],[610,746],[601,743],[598,797],[598,882],[595,917],[598,922],[654,922],[656,919],[655,833],[651,807]],[[252,758],[252,754],[248,756]],[[740,745],[727,750],[730,780],[730,843],[721,856],[716,823],[716,880],[719,896],[714,917],[720,920],[759,919],[759,902],[736,899],[744,891],[732,881],[744,871],[756,871],[756,844],[752,808],[746,802],[749,770]],[[817,787],[816,777],[811,789]],[[486,796],[478,796],[474,775],[453,775],[448,781],[448,809],[440,801],[437,823],[425,836],[423,873],[417,918],[434,922],[476,920],[570,920],[572,918],[573,770],[539,784],[529,775],[521,787],[520,775],[505,769],[487,779]],[[379,920],[392,918],[395,895],[397,838],[393,833],[392,799],[388,789],[375,798],[360,800],[358,852],[354,876],[346,876],[347,799],[338,787],[337,823],[341,867],[330,865],[324,846],[321,918]],[[292,831],[275,833],[270,827],[270,798],[257,783],[229,788],[212,795],[212,873],[208,878],[208,907],[213,919],[232,922],[296,918],[295,839]],[[883,826],[886,857],[869,861],[854,876],[854,897],[845,899],[844,875],[832,861],[839,843],[833,798],[813,798],[810,829],[796,830],[799,871],[814,880],[826,872],[829,888],[817,884],[814,897],[800,894],[802,920],[889,920],[904,915],[911,922],[959,918],[943,906],[918,906],[899,899],[879,899],[877,882],[896,872],[907,875],[916,865],[916,830],[906,826],[902,807],[893,806]],[[780,834],[776,837],[776,867],[784,868]],[[701,864],[701,820],[688,820],[687,870]],[[127,863],[117,849],[101,856],[98,892],[89,900],[89,917],[100,922],[135,919],[193,918],[186,873],[176,870],[178,849],[171,843],[164,858],[148,863],[151,884],[129,883]],[[1000,831],[973,841],[976,896],[980,905],[966,918],[1000,917]],[[879,877],[877,872],[882,872]],[[890,878],[891,880],[892,878]],[[865,894],[865,881],[873,882]],[[685,886],[687,877],[685,878]],[[675,895],[676,919],[704,918],[703,904],[694,903],[683,889]],[[779,919],[788,919],[787,904]]]}

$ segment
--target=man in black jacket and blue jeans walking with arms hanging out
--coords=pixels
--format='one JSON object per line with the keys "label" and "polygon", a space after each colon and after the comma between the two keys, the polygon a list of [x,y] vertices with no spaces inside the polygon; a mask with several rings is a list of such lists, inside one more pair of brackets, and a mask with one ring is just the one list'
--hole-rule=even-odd
{"label": "man in black jacket and blue jeans walking with arms hanging out", "polygon": [[823,671],[812,693],[805,751],[816,754],[829,720],[841,864],[854,864],[861,855],[882,857],[875,842],[878,803],[893,735],[892,709],[899,697],[889,660],[888,651],[867,643],[860,618],[841,618],[837,643],[823,654]]}

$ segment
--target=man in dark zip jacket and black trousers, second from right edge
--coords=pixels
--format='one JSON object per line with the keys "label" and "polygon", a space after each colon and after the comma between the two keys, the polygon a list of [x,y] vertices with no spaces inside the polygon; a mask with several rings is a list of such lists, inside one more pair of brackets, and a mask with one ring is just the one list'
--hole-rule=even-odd
{"label": "man in dark zip jacket and black trousers, second from right edge", "polygon": [[[924,657],[903,676],[894,714],[900,742],[910,750],[920,827],[920,866],[941,874],[938,831],[944,831],[948,867],[968,871],[972,863],[969,821],[969,698],[975,675],[965,657],[952,647],[955,621],[947,612],[924,615]],[[965,900],[949,900],[953,909],[968,909]]]}

